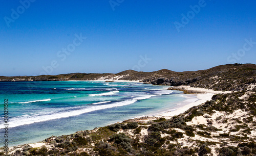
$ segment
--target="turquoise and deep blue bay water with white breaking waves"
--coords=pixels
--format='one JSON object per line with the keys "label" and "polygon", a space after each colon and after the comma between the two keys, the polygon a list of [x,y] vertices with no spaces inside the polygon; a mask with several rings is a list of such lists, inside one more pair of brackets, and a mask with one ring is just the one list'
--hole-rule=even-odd
{"label": "turquoise and deep blue bay water with white breaking waves", "polygon": [[[1,82],[0,88],[3,112],[9,102],[9,146],[160,112],[185,99],[167,86],[134,82]],[[3,113],[1,119],[4,126]]]}

